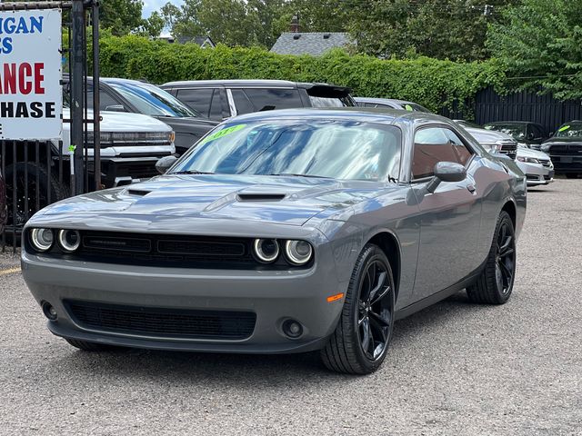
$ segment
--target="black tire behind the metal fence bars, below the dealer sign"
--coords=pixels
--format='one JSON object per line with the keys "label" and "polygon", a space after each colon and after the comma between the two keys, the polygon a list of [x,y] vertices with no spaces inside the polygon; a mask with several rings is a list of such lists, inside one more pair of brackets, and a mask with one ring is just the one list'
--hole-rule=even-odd
{"label": "black tire behind the metal fence bars, below the dealer sign", "polygon": [[[38,190],[36,189],[36,171],[38,171]],[[13,208],[14,174],[16,173],[16,215]],[[28,173],[28,211],[25,211],[25,173]],[[6,203],[8,210],[8,225],[21,227],[25,224],[26,218],[30,218],[36,209],[36,192],[39,193],[40,209],[49,203],[64,200],[69,196],[69,189],[64,183],[60,183],[55,173],[49,176],[48,169],[44,164],[32,162],[18,162],[6,165]],[[47,193],[50,192],[50,202]]]}

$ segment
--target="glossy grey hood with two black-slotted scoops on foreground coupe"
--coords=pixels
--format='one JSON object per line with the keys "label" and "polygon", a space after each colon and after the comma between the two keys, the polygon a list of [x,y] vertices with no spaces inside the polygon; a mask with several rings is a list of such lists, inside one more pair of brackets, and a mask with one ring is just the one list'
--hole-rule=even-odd
{"label": "glossy grey hood with two black-slotted scoops on foreground coupe", "polygon": [[48,206],[57,214],[148,215],[302,225],[373,198],[394,183],[257,175],[164,175]]}

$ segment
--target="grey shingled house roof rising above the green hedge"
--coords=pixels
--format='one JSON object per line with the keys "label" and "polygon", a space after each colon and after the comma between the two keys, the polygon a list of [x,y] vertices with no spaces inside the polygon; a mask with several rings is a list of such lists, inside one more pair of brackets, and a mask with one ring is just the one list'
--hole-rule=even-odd
{"label": "grey shingled house roof rising above the green hedge", "polygon": [[342,32],[286,32],[279,36],[271,52],[320,56],[332,48],[345,47],[348,43],[348,35]]}

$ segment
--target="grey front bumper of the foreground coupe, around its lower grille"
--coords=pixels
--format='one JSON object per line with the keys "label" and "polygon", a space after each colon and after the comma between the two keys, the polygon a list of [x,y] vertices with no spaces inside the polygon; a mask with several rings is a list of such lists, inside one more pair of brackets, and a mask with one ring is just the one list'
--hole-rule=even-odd
{"label": "grey front bumper of the foreground coupe, around its lower grille", "polygon": [[[334,331],[346,292],[337,282],[333,260],[319,256],[305,271],[224,271],[128,267],[47,259],[23,250],[25,282],[39,304],[49,302],[58,313],[48,328],[58,336],[138,348],[196,352],[307,352],[325,346]],[[256,313],[246,339],[185,339],[172,334],[112,332],[78,322],[66,301],[144,308],[244,311]],[[303,334],[288,338],[288,319],[300,322]]]}

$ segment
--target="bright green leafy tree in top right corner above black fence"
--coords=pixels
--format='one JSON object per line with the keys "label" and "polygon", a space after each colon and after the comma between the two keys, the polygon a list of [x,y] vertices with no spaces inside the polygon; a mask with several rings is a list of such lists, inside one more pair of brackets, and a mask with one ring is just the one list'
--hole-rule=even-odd
{"label": "bright green leafy tree in top right corner above black fence", "polygon": [[582,0],[524,0],[491,25],[487,47],[505,62],[514,89],[582,97]]}

